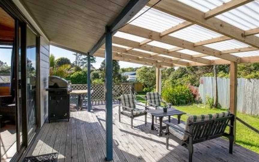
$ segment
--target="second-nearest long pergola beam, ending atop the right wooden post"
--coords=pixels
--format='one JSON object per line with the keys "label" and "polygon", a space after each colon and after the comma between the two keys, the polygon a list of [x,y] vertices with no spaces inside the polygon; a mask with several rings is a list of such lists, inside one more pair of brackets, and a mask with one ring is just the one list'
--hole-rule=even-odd
{"label": "second-nearest long pergola beam, ending atop the right wooden post", "polygon": [[[161,2],[163,2],[163,1],[161,1]],[[160,3],[158,3],[158,4],[160,4]],[[129,34],[132,34],[132,35],[140,36],[140,37],[143,37],[143,38],[146,38],[146,39],[152,39],[152,40],[155,40],[155,41],[167,43],[167,44],[174,45],[174,46],[177,46],[177,47],[180,47],[180,48],[189,49],[189,50],[196,51],[196,52],[203,53],[203,54],[207,54],[207,55],[210,55],[210,56],[215,56],[215,57],[218,57],[218,58],[221,58],[221,59],[226,59],[226,60],[229,60],[229,61],[238,62],[238,57],[236,57],[236,56],[231,56],[231,55],[229,55],[229,56],[225,55],[224,56],[224,55],[221,55],[220,51],[212,49],[212,48],[208,48],[206,46],[194,47],[194,43],[183,40],[183,39],[175,38],[175,37],[172,37],[172,36],[160,37],[160,33],[158,33],[158,32],[148,30],[148,29],[145,29],[145,28],[142,28],[142,27],[138,27],[138,26],[135,26],[135,25],[128,24],[128,25],[124,26],[123,28],[121,28],[120,31],[124,32],[124,33],[129,33]]]}

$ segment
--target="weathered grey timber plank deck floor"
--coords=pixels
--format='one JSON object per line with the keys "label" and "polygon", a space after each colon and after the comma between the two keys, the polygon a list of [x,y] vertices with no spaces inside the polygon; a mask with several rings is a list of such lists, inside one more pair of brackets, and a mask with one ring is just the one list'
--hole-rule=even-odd
{"label": "weathered grey timber plank deck floor", "polygon": [[[105,161],[105,106],[93,106],[94,111],[72,111],[69,122],[45,123],[27,156],[58,152],[59,162]],[[169,140],[165,149],[165,137],[150,130],[144,117],[133,120],[122,115],[118,122],[118,106],[113,111],[113,152],[115,162],[186,162],[188,150]],[[259,155],[241,146],[234,146],[228,153],[228,141],[223,138],[194,145],[194,162],[255,162]]]}

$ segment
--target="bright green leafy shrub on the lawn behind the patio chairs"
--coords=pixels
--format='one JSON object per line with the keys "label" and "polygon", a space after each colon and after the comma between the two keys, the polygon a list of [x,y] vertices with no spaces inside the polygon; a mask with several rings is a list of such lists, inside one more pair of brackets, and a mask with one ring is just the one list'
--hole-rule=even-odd
{"label": "bright green leafy shrub on the lawn behind the patio chairs", "polygon": [[185,105],[194,102],[191,90],[186,85],[165,84],[162,90],[163,99],[173,105]]}

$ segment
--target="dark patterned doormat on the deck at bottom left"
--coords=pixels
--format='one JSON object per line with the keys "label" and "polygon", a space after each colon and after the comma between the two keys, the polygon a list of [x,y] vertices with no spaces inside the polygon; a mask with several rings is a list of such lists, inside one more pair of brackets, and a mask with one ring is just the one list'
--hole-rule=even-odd
{"label": "dark patterned doormat on the deck at bottom left", "polygon": [[22,162],[58,162],[58,153],[30,156],[24,158]]}

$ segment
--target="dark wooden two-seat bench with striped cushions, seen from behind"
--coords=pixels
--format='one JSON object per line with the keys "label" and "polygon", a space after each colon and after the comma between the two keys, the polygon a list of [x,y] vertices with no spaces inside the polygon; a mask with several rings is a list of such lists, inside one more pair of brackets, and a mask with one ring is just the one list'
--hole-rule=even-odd
{"label": "dark wooden two-seat bench with striped cushions, seen from behind", "polygon": [[[228,124],[230,122],[230,124]],[[234,115],[229,111],[219,114],[189,116],[186,123],[166,124],[166,149],[169,137],[189,150],[189,162],[192,162],[193,144],[225,136],[229,139],[229,153],[233,153]],[[226,127],[230,133],[225,133]]]}

